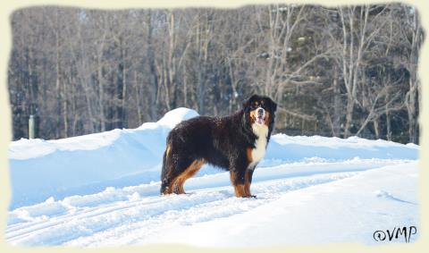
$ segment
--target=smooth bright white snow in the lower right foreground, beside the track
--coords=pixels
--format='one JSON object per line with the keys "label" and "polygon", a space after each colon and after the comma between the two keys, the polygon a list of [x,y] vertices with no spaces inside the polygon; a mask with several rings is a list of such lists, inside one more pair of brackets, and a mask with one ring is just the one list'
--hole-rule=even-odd
{"label": "smooth bright white snow in the lower right foreground, beside the track", "polygon": [[[384,177],[386,173],[393,175]],[[204,247],[263,247],[327,241],[375,244],[372,235],[377,230],[398,227],[399,220],[404,222],[402,225],[418,223],[416,181],[407,181],[413,173],[416,173],[416,164],[400,164],[347,175],[342,180],[332,179],[330,183],[315,181],[308,187],[290,190],[266,205],[248,207],[242,215],[178,225],[148,241]],[[386,190],[387,195],[374,194]],[[230,229],[231,224],[240,225]],[[246,236],[241,236],[242,233]]]}

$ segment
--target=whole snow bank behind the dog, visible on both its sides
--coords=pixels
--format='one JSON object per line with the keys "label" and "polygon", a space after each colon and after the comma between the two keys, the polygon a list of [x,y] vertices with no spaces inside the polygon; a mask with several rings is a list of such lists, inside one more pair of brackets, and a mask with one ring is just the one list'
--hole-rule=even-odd
{"label": "whole snow bank behind the dog, visible on both its sides", "polygon": [[[13,197],[11,209],[86,195],[106,187],[124,187],[159,181],[165,138],[183,120],[198,113],[177,108],[158,122],[147,122],[134,130],[114,130],[68,139],[21,139],[9,148]],[[260,166],[299,163],[310,159],[415,160],[418,146],[385,140],[273,135]],[[205,166],[199,173],[218,173]]]}

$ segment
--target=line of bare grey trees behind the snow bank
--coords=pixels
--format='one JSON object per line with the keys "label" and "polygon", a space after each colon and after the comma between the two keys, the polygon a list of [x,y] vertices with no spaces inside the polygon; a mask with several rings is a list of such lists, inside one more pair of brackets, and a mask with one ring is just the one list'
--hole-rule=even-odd
{"label": "line of bare grey trees behind the snow bank", "polygon": [[135,128],[185,106],[226,115],[254,93],[275,131],[418,143],[418,13],[406,4],[274,4],[11,16],[13,139]]}

